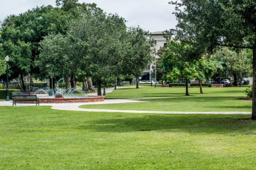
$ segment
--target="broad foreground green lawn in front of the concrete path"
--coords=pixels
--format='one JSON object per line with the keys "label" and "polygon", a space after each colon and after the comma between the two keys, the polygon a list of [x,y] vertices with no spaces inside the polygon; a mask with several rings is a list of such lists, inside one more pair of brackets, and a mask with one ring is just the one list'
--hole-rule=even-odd
{"label": "broad foreground green lawn in front of the concrete path", "polygon": [[255,169],[250,115],[0,110],[1,169]]}

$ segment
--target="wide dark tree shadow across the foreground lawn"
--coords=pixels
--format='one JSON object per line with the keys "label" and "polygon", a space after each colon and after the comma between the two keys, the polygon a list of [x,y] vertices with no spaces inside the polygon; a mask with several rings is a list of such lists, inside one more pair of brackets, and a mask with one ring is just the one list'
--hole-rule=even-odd
{"label": "wide dark tree shadow across the foreground lawn", "polygon": [[[230,135],[255,134],[256,121],[249,121],[250,115],[120,115],[116,119],[101,119],[90,122],[90,126],[79,129],[92,129],[97,132],[187,132],[215,133]],[[248,120],[248,121],[244,121]]]}

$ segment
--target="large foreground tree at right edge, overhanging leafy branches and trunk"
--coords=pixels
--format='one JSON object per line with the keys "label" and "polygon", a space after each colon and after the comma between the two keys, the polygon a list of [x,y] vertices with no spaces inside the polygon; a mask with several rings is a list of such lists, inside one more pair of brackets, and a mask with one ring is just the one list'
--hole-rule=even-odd
{"label": "large foreground tree at right edge, overhanging leafy branches and trunk", "polygon": [[218,46],[248,48],[253,51],[252,119],[256,119],[256,1],[180,0],[176,6],[176,29],[181,41],[196,44],[202,51]]}

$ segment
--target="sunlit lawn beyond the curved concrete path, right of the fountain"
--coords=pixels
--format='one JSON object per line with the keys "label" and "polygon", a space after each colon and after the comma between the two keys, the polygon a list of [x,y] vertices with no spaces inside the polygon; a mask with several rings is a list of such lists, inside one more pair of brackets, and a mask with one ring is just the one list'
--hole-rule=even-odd
{"label": "sunlit lawn beyond the curved concrete path, right of the fountain", "polygon": [[[184,96],[184,87],[141,87],[124,88],[107,93],[106,98],[144,98],[144,103],[120,103],[83,105],[81,108],[152,111],[251,111],[252,101],[238,100],[246,97],[247,87],[189,88],[191,96]],[[165,97],[165,98],[161,98]],[[150,99],[151,98],[151,99]],[[136,99],[137,100],[137,99]]]}

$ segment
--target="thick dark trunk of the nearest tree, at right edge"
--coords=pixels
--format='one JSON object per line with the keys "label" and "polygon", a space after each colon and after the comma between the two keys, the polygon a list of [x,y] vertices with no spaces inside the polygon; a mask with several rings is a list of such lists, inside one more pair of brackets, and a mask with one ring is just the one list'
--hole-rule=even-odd
{"label": "thick dark trunk of the nearest tree, at right edge", "polygon": [[256,47],[252,50],[252,68],[253,68],[253,80],[252,80],[252,120],[256,120]]}

